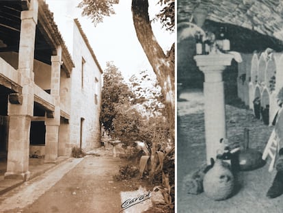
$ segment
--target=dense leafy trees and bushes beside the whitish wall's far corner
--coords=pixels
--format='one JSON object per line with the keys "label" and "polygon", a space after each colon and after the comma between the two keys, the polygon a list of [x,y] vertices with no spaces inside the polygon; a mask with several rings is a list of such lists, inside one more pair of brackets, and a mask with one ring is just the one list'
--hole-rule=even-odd
{"label": "dense leafy trees and bushes beside the whitish wall's far corner", "polygon": [[[160,90],[150,91],[146,86],[140,84],[149,81],[148,75],[142,72],[142,79],[132,77],[131,84],[137,86],[136,94],[132,92],[118,68],[112,62],[107,62],[107,69],[104,72],[102,110],[100,122],[111,136],[123,142],[124,147],[134,146],[135,140],[144,140],[152,145],[152,141],[157,141],[159,147],[165,148],[167,138],[170,136],[169,123],[163,116],[145,118],[142,114],[148,110],[150,114],[163,112],[160,108],[162,95]],[[157,84],[156,82],[153,84]],[[155,85],[156,86],[156,85]],[[150,97],[146,96],[150,95]],[[150,100],[150,104],[142,110],[137,110],[137,104],[145,104]]]}

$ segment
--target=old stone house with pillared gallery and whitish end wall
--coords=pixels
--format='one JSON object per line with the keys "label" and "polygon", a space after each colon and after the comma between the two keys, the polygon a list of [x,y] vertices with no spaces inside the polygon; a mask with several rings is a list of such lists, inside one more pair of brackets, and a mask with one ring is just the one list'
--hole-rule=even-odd
{"label": "old stone house with pillared gallery and whitish end wall", "polygon": [[100,145],[101,70],[79,21],[71,54],[43,0],[0,1],[0,152],[5,178]]}

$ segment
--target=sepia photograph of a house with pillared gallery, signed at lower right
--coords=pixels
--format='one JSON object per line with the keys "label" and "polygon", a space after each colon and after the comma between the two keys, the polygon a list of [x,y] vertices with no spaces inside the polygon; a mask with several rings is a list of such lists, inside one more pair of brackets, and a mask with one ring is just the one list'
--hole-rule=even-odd
{"label": "sepia photograph of a house with pillared gallery, signed at lower right", "polygon": [[175,1],[0,1],[0,212],[172,213]]}

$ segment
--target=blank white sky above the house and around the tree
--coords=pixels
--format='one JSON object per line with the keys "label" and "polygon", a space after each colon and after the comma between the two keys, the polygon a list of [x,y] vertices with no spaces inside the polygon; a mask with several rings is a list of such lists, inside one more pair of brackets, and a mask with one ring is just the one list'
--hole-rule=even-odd
{"label": "blank white sky above the house and around the tree", "polygon": [[[80,0],[45,1],[49,5],[49,10],[54,14],[55,23],[58,25],[71,55],[73,49],[72,34],[70,33],[72,28],[70,27],[72,27],[73,19],[78,18],[103,70],[106,68],[106,62],[113,61],[125,79],[129,79],[131,75],[139,71],[152,72],[135,34],[131,0],[120,0],[118,5],[114,5],[116,14],[105,17],[103,23],[98,23],[96,27],[90,18],[81,17],[81,9],[77,8]],[[157,0],[149,0],[149,3],[151,18],[159,12],[160,6],[157,5]],[[175,40],[175,35],[161,29],[161,24],[158,22],[152,25],[152,30],[163,50],[169,50]]]}

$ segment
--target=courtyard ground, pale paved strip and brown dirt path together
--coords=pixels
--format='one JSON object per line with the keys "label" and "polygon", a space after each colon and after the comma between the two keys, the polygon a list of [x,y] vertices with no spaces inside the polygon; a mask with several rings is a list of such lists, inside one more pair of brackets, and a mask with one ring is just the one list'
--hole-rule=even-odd
{"label": "courtyard ground, pale paved strip and brown dirt path together", "polygon": [[139,183],[113,181],[124,164],[109,155],[70,158],[0,197],[0,212],[120,212],[121,192],[139,188]]}

